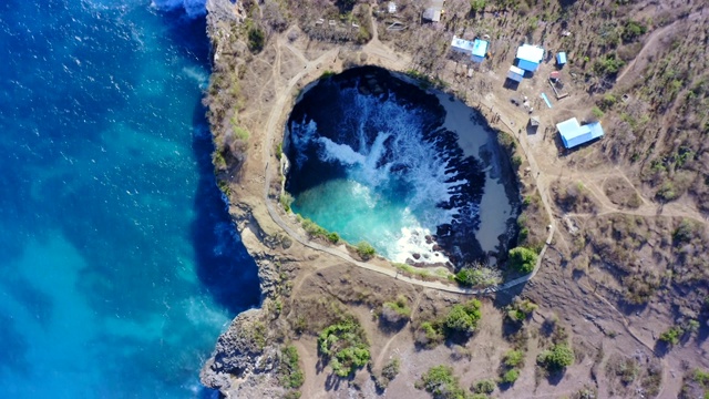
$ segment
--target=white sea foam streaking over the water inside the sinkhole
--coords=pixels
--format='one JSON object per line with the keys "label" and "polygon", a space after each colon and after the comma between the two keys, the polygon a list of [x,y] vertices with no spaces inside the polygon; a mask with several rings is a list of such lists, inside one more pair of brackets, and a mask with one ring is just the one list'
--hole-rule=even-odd
{"label": "white sea foam streaking over the water inside the sinkhole", "polygon": [[[404,262],[412,254],[420,254],[418,262],[422,263],[448,262],[433,252],[433,244],[427,244],[425,236],[460,214],[461,209],[436,205],[448,203],[455,187],[465,182],[449,182],[454,167],[439,154],[435,142],[424,140],[422,111],[405,108],[394,95],[381,101],[356,89],[343,89],[340,96],[346,111],[341,131],[336,134],[321,135],[314,121],[291,124],[291,143],[298,149],[296,163],[302,165],[307,161],[306,149],[317,146],[320,161],[345,166],[347,177],[369,187],[373,192],[370,196],[390,193],[395,185],[405,187],[405,198],[389,198],[405,203],[405,211],[399,216],[403,227],[379,234],[389,239],[379,243],[384,248],[378,249],[397,262]],[[346,232],[340,233],[347,236]]]}

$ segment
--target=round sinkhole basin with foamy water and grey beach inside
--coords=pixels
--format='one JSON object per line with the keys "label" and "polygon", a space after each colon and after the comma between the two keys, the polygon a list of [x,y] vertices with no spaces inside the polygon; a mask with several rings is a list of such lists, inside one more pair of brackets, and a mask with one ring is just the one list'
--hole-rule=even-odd
{"label": "round sinkhole basin with foamy water and grey beach inside", "polygon": [[284,154],[295,213],[392,262],[494,263],[516,239],[518,192],[495,132],[405,75],[362,66],[311,84]]}

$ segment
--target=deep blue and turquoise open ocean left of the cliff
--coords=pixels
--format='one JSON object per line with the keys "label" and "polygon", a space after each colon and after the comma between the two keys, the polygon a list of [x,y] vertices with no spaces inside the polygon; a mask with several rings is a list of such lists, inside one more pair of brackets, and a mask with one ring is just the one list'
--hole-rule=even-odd
{"label": "deep blue and turquoise open ocean left of the cliff", "polygon": [[258,304],[184,6],[0,2],[0,398],[209,397],[202,362]]}

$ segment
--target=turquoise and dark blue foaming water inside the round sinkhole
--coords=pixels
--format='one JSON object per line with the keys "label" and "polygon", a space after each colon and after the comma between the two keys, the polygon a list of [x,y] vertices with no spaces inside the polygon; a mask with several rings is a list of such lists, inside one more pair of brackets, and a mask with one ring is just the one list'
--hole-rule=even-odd
{"label": "turquoise and dark blue foaming water inside the round sinkhole", "polygon": [[325,119],[306,111],[290,121],[294,209],[394,262],[449,262],[433,238],[476,226],[481,188],[471,180],[484,177],[474,160],[463,160],[429,109],[394,92],[338,88],[337,102]]}

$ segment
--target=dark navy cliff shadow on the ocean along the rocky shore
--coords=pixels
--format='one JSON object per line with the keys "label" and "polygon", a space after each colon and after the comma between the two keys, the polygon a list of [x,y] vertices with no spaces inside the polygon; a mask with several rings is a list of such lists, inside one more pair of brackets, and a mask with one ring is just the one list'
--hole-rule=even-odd
{"label": "dark navy cliff shadow on the ocean along the rocky shore", "polygon": [[197,103],[193,112],[192,149],[197,158],[197,183],[191,237],[196,274],[214,300],[232,316],[257,306],[261,293],[256,262],[242,244],[228,207],[216,185],[212,152],[214,145],[205,119],[206,109]]}

